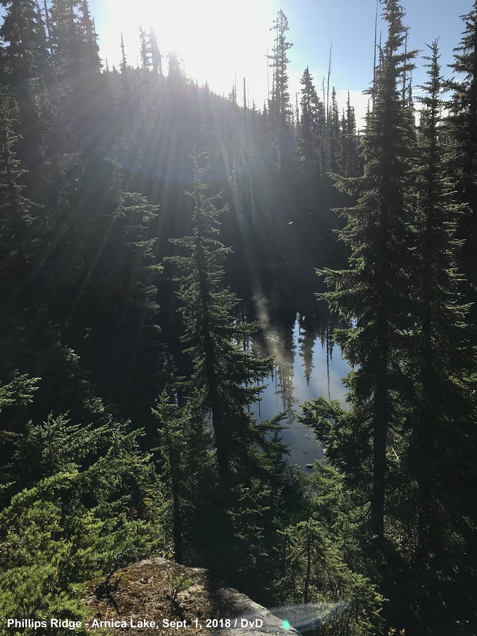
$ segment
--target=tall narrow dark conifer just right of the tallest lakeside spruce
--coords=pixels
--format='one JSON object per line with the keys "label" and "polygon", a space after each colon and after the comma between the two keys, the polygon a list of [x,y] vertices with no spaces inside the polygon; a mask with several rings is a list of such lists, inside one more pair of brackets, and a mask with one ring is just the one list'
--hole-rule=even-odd
{"label": "tall narrow dark conifer just right of the tallest lakeside spruce", "polygon": [[[437,41],[430,47],[426,97],[421,98],[423,117],[419,127],[419,159],[417,188],[417,254],[419,256],[418,312],[419,330],[413,336],[419,341],[417,361],[421,374],[421,405],[419,421],[412,446],[419,456],[419,535],[418,550],[425,554],[433,517],[441,517],[448,507],[443,506],[438,515],[432,515],[434,507],[445,489],[439,486],[436,470],[441,468],[432,455],[439,452],[435,443],[447,430],[458,435],[458,428],[443,421],[456,416],[456,399],[459,392],[456,380],[465,365],[465,306],[458,302],[455,271],[458,241],[455,225],[459,206],[452,200],[450,180],[446,177],[445,148],[439,143],[441,125],[440,91],[443,78],[440,73]],[[463,349],[464,347],[464,349]],[[445,363],[444,363],[445,360]],[[452,406],[447,400],[452,396]],[[432,428],[431,428],[432,427]],[[456,440],[455,440],[456,441]],[[426,459],[424,459],[426,457]],[[427,458],[428,457],[428,458]],[[438,468],[439,466],[439,468]],[[436,491],[435,491],[436,489]],[[436,546],[431,548],[432,552]]]}

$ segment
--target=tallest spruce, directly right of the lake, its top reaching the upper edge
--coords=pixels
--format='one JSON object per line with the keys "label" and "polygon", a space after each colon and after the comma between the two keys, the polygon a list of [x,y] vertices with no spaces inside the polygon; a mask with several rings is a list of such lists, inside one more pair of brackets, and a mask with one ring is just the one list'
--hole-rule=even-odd
{"label": "tallest spruce, directly right of the lake, its top reaching the upper edge", "polygon": [[[340,191],[358,197],[356,206],[343,210],[347,225],[340,232],[352,254],[347,269],[321,272],[334,287],[323,297],[343,318],[354,321],[351,328],[337,332],[345,356],[358,367],[347,378],[352,409],[343,426],[355,429],[359,459],[350,461],[347,469],[369,499],[371,533],[381,545],[389,444],[401,426],[402,332],[412,327],[408,269],[403,262],[411,254],[408,186],[413,137],[398,79],[404,69],[411,68],[415,56],[415,51],[402,50],[404,10],[397,0],[382,0],[382,6],[388,36],[376,78],[374,109],[368,114],[363,137],[364,175],[352,180],[335,178]],[[339,443],[336,453],[336,457],[346,454]]]}

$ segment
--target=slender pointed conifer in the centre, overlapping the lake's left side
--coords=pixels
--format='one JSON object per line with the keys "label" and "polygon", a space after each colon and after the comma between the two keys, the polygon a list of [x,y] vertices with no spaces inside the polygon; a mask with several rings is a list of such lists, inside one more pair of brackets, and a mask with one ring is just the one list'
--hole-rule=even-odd
{"label": "slender pointed conifer in the centre, overlapping the lake's left side", "polygon": [[[269,358],[253,358],[243,349],[252,329],[234,321],[237,301],[223,289],[222,262],[230,249],[217,239],[218,217],[227,208],[217,208],[219,195],[208,195],[204,182],[207,168],[194,159],[193,236],[171,241],[187,249],[188,256],[174,256],[180,283],[178,295],[184,306],[184,341],[191,346],[194,372],[189,382],[191,404],[198,415],[210,414],[217,448],[217,464],[223,482],[232,469],[243,473],[260,464],[258,448],[267,448],[265,433],[278,430],[275,422],[258,424],[247,407],[258,400],[257,384],[271,370]],[[266,460],[266,453],[261,458]]]}

